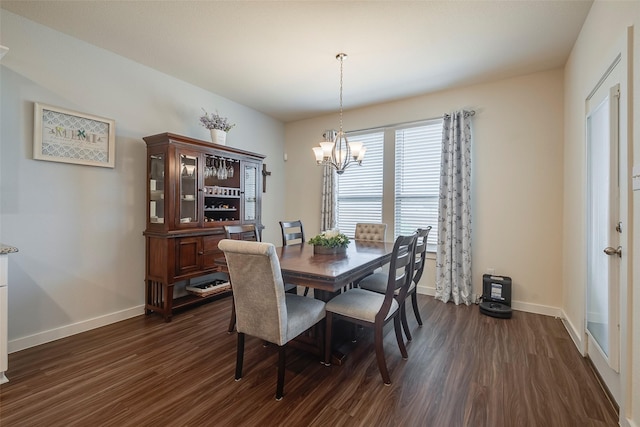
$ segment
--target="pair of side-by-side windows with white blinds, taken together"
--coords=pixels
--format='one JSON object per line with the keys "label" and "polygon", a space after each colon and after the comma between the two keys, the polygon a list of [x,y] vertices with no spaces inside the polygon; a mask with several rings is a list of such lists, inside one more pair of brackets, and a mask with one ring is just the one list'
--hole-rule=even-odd
{"label": "pair of side-by-side windows with white blinds, taken together", "polygon": [[[362,166],[338,176],[337,224],[353,237],[358,222],[393,224],[394,239],[417,228],[432,226],[428,249],[435,252],[438,225],[442,119],[349,133],[362,141],[367,153]],[[384,164],[387,145],[395,160]],[[394,195],[383,197],[383,177],[393,177]],[[387,178],[389,179],[389,178]],[[388,207],[383,205],[389,204]],[[391,203],[393,202],[393,206]],[[393,215],[393,218],[385,218]]]}

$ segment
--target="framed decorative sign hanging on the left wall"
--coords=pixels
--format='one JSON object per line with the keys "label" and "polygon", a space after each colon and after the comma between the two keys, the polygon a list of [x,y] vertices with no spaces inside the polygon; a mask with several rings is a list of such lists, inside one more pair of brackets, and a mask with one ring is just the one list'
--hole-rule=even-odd
{"label": "framed decorative sign hanging on the left wall", "polygon": [[115,126],[112,119],[36,102],[33,158],[114,168]]}

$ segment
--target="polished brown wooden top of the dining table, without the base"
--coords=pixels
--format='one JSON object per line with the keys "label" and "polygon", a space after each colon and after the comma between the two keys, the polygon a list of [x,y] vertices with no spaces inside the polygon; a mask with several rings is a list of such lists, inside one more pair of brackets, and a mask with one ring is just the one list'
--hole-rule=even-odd
{"label": "polished brown wooden top of the dining table, without the base", "polygon": [[276,248],[287,283],[336,292],[391,259],[393,243],[352,240],[343,255],[316,255],[313,245],[301,243]]}

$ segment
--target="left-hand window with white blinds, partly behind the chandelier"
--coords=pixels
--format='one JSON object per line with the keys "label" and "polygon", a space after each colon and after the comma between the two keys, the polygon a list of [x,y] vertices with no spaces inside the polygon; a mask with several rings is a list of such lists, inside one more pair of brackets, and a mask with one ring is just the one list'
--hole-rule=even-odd
{"label": "left-hand window with white blinds, partly behind the chandelier", "polygon": [[349,134],[348,138],[367,147],[362,166],[350,166],[338,176],[337,224],[341,232],[353,237],[358,222],[382,222],[384,132]]}

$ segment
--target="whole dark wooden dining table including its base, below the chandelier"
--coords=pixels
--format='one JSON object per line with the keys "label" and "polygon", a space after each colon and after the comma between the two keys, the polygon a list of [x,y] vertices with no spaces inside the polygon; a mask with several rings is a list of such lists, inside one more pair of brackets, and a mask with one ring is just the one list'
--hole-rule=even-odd
{"label": "whole dark wooden dining table including its base, below the chandelier", "polygon": [[[300,243],[277,247],[276,253],[285,283],[312,288],[314,298],[327,302],[354,281],[389,263],[393,243],[352,240],[344,254],[315,254],[313,245]],[[216,264],[226,270],[224,258],[216,260]],[[340,323],[334,327],[340,328]],[[348,329],[346,334],[351,334],[349,339],[344,338],[345,334],[333,333],[340,341],[333,346],[333,364],[342,364],[351,346],[353,329],[344,329]],[[311,329],[291,341],[290,345],[322,356],[323,335],[323,332]]]}

